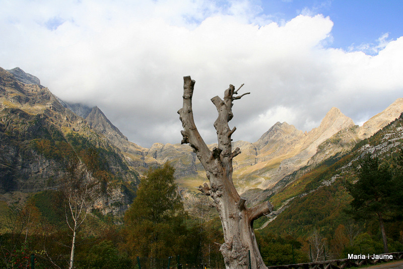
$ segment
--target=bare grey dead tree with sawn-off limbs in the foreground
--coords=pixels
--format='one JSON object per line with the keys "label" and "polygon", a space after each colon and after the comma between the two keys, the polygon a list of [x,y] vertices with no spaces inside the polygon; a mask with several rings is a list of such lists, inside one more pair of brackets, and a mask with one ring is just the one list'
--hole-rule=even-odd
{"label": "bare grey dead tree with sawn-off limbs in the foreground", "polygon": [[220,251],[224,256],[225,266],[231,269],[248,268],[250,251],[251,268],[266,268],[257,247],[253,221],[272,212],[273,206],[267,202],[247,208],[246,198],[238,194],[232,181],[232,159],[241,151],[239,148],[232,151],[231,135],[236,127],[230,129],[228,122],[233,117],[232,102],[249,93],[234,97],[243,85],[236,91],[234,86],[230,85],[225,90],[224,100],[218,96],[211,99],[218,111],[217,120],[214,122],[218,147],[210,150],[193,120],[192,95],[195,81],[190,77],[184,77],[183,81],[183,107],[178,111],[183,126],[181,144],[189,144],[193,148],[210,181],[210,186],[204,183],[198,190],[213,198],[220,215],[225,240]]}

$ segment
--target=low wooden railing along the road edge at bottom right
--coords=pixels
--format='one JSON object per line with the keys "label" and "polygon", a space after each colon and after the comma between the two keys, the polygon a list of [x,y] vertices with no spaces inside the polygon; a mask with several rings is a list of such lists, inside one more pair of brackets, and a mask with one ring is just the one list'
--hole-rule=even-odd
{"label": "low wooden railing along the road edge at bottom right", "polygon": [[403,259],[403,252],[393,252],[386,253],[385,255],[392,255],[392,259],[371,259],[371,258],[362,258],[362,259],[333,259],[333,260],[325,260],[325,261],[315,261],[308,263],[297,263],[297,264],[287,264],[287,265],[275,265],[268,266],[268,269],[342,269],[342,268],[350,268],[350,267],[359,267],[367,264],[376,264],[380,262],[386,262],[391,260],[400,260]]}

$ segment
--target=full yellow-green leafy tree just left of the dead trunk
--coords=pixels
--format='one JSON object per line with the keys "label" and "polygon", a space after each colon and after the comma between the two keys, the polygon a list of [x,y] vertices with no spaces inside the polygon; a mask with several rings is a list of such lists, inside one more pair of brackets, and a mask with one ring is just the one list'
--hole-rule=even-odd
{"label": "full yellow-green leafy tree just left of the dead trunk", "polygon": [[176,192],[174,168],[166,163],[150,169],[141,180],[137,197],[124,216],[123,248],[131,258],[166,258],[183,253],[186,229],[184,209]]}

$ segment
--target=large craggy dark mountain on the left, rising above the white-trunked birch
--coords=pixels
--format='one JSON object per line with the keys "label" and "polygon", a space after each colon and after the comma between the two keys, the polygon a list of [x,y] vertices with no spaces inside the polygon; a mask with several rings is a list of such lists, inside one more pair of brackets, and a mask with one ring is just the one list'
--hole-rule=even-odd
{"label": "large craggy dark mountain on the left, rising above the white-trunked birch", "polygon": [[0,194],[57,188],[64,175],[64,156],[81,156],[95,148],[102,171],[113,182],[113,195],[102,210],[124,211],[139,177],[120,150],[65,108],[34,76],[12,71],[18,76],[0,68]]}

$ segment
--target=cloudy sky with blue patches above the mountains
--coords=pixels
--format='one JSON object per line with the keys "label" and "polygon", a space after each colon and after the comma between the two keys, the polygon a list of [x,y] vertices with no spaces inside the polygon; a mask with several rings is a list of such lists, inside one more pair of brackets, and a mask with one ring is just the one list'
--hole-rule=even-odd
{"label": "cloudy sky with blue patches above the mountains", "polygon": [[64,101],[98,106],[129,141],[180,143],[183,77],[216,142],[229,84],[232,138],[276,122],[319,126],[339,108],[362,125],[403,97],[401,1],[0,0],[0,67],[19,67]]}

